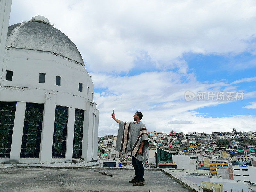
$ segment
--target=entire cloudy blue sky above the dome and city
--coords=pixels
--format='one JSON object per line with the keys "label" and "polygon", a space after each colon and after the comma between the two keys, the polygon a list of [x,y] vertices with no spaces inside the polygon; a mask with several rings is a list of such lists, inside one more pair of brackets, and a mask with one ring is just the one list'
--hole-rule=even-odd
{"label": "entire cloudy blue sky above the dome and city", "polygon": [[[29,6],[28,6],[29,4]],[[80,51],[100,110],[148,131],[256,131],[255,1],[12,0],[10,25],[46,17]],[[239,101],[185,101],[186,91],[244,92]]]}

